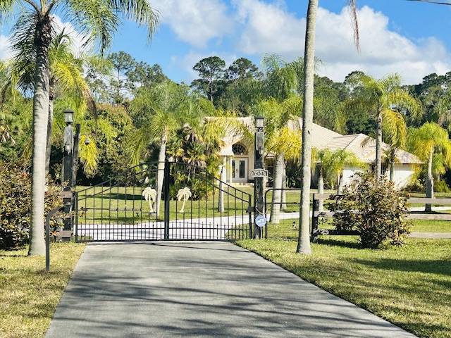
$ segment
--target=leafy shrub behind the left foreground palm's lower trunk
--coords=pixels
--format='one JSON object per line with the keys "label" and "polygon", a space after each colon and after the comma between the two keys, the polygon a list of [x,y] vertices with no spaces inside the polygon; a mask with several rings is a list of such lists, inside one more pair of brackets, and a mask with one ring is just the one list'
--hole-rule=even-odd
{"label": "leafy shrub behind the left foreground palm's lower trunk", "polygon": [[[19,249],[30,238],[31,177],[19,165],[0,165],[0,250]],[[50,187],[44,213],[61,205],[57,187]]]}

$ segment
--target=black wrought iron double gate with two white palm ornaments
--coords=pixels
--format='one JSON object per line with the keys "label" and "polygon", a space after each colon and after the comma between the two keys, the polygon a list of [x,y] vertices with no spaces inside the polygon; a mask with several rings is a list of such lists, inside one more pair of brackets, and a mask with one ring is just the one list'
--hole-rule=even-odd
{"label": "black wrought iron double gate with two white palm ornaments", "polygon": [[186,163],[125,170],[75,192],[74,211],[78,242],[252,238],[251,194]]}

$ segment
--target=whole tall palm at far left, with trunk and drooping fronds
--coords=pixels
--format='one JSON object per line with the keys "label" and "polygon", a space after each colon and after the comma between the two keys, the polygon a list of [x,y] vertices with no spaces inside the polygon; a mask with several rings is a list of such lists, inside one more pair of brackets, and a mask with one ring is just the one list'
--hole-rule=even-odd
{"label": "whole tall palm at far left, with trunk and drooping fronds", "polygon": [[2,1],[1,23],[18,15],[11,35],[16,57],[36,60],[33,94],[33,146],[31,231],[28,255],[45,254],[44,192],[45,158],[47,149],[47,123],[49,120],[49,48],[55,36],[54,11],[65,18],[91,42],[99,42],[101,51],[109,47],[113,33],[121,24],[120,14],[136,20],[149,29],[149,37],[158,22],[156,14],[146,0],[42,0]]}

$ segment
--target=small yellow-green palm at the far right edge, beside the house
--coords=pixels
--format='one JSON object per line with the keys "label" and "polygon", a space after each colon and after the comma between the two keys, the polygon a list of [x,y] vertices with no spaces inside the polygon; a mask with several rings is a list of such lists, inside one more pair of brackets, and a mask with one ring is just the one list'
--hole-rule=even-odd
{"label": "small yellow-green palm at the far right edge, beside the house", "polygon": [[[451,141],[448,133],[437,123],[428,122],[417,129],[410,130],[407,143],[409,151],[427,163],[426,197],[433,198],[434,157],[440,163],[439,169],[435,169],[438,173],[443,173],[445,168],[451,167]],[[431,211],[431,204],[426,204],[426,211]]]}

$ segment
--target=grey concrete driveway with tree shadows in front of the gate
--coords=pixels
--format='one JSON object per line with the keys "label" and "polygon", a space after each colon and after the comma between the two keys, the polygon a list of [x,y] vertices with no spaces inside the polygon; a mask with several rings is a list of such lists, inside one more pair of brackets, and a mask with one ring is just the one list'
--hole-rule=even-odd
{"label": "grey concrete driveway with tree shadows in front of the gate", "polygon": [[225,242],[88,244],[46,338],[415,337]]}

